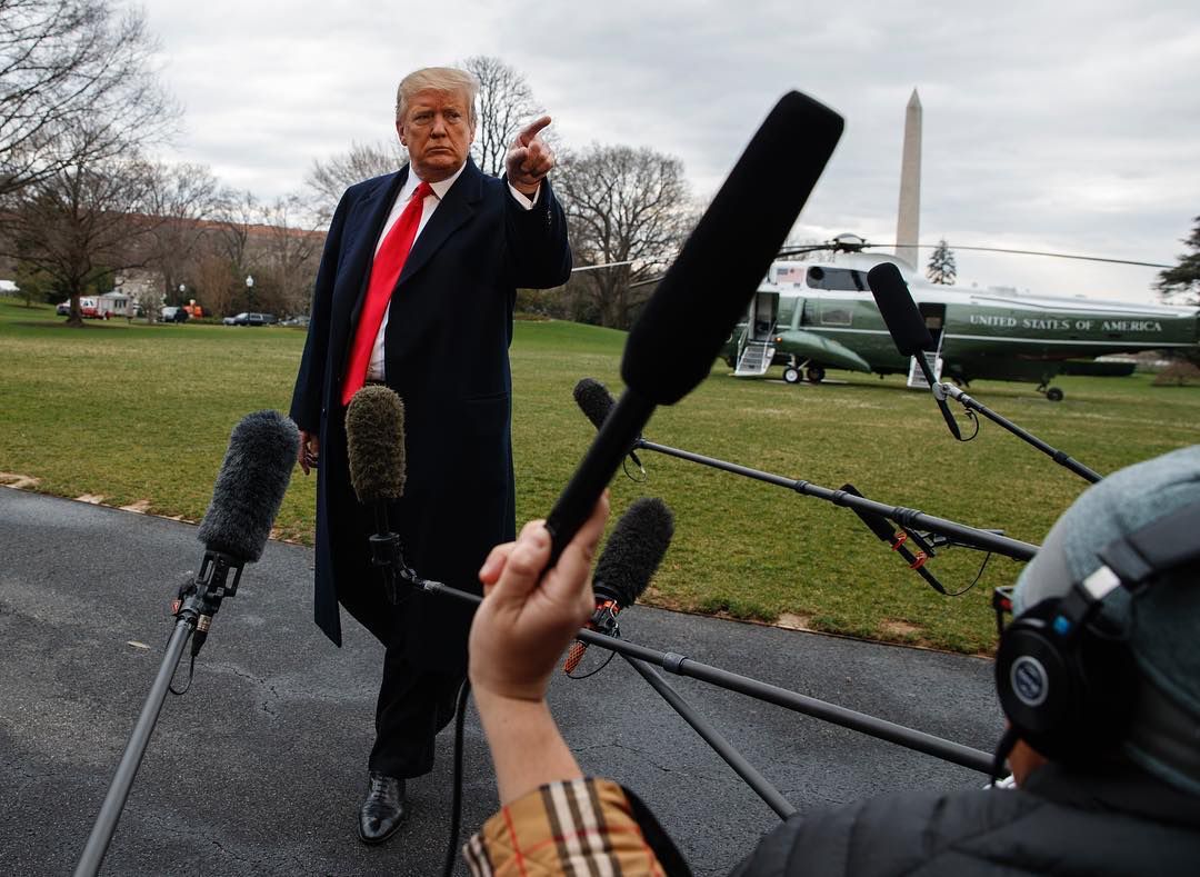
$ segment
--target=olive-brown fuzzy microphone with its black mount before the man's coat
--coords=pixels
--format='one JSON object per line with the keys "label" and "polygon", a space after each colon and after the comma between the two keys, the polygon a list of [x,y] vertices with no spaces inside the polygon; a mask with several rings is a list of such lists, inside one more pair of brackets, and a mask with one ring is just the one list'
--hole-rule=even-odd
{"label": "olive-brown fuzzy microphone with its black mount before the man's coat", "polygon": [[388,503],[404,495],[404,403],[378,384],[354,394],[346,409],[346,451],[350,485],[362,505],[373,506],[371,564],[383,573],[388,600],[400,600],[398,578],[408,572],[400,535],[391,531]]}

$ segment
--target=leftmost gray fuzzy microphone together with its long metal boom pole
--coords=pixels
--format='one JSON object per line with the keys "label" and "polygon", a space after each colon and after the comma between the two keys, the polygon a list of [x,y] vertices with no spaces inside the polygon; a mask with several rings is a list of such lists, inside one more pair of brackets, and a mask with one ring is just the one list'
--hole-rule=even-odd
{"label": "leftmost gray fuzzy microphone together with its long metal boom pole", "polygon": [[170,680],[184,655],[184,647],[194,632],[194,666],[196,655],[204,644],[221,601],[236,593],[242,566],[263,555],[275,516],[292,480],[292,468],[299,450],[299,430],[278,412],[247,414],[233,428],[224,462],[212,487],[212,501],[209,503],[197,534],[204,543],[200,571],[192,582],[184,585],[175,600],[172,612],[178,619],[175,629],[167,642],[158,674],[130,734],[121,762],[108,786],[100,815],[88,835],[88,842],[76,865],[76,877],[92,877],[100,872],[150,743],[150,734],[154,733],[158,713],[170,690]]}

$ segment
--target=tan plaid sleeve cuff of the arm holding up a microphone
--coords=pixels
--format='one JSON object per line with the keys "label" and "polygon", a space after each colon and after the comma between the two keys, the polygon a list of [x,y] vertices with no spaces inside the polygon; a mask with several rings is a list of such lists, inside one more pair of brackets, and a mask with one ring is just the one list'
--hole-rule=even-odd
{"label": "tan plaid sleeve cuff of the arm holding up a microphone", "polygon": [[476,877],[665,875],[624,789],[600,779],[522,795],[484,823],[463,857]]}

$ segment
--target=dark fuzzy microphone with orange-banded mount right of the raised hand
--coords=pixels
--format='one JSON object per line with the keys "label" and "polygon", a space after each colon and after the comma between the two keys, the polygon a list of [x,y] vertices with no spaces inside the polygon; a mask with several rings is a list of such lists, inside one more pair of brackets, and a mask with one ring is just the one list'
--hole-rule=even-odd
{"label": "dark fuzzy microphone with orange-banded mount right of the raised hand", "polygon": [[[589,630],[619,636],[617,615],[646,593],[673,535],[674,516],[661,499],[643,497],[634,500],[620,516],[596,561],[596,571],[592,576],[596,608],[587,624]],[[575,671],[587,648],[587,643],[575,641],[566,653],[564,673],[570,675]]]}

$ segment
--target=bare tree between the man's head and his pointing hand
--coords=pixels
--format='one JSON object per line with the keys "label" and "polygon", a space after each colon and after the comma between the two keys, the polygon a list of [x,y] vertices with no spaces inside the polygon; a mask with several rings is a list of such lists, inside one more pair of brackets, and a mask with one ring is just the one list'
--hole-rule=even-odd
{"label": "bare tree between the man's head and his pointing hand", "polygon": [[504,156],[517,131],[545,110],[534,100],[524,76],[499,58],[473,55],[461,66],[479,79],[472,155],[480,170],[499,176],[504,173]]}

